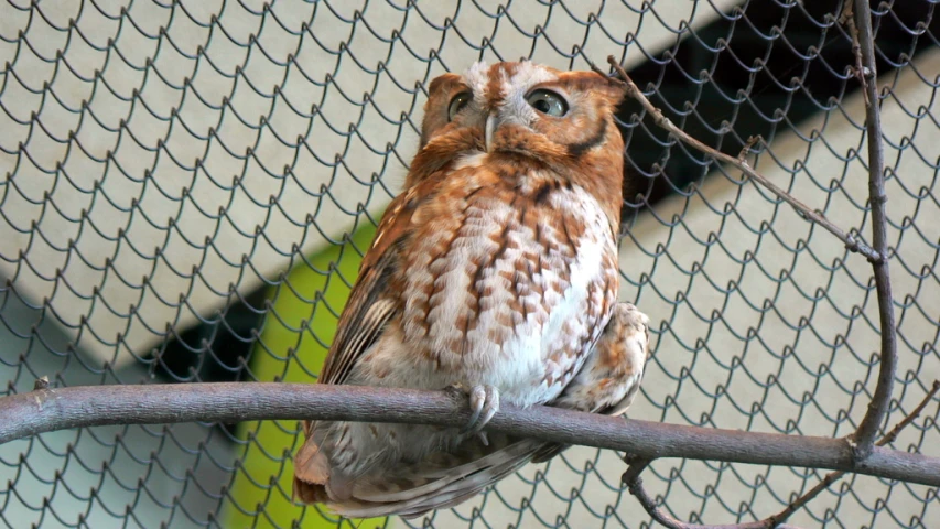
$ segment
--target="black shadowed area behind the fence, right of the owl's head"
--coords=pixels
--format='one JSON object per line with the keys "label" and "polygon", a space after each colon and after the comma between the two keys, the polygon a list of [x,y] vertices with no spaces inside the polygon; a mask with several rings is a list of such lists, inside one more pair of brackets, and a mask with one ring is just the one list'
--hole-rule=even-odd
{"label": "black shadowed area behind the fence, right of the owl's head", "polygon": [[[779,132],[824,111],[860,89],[846,69],[855,63],[847,29],[838,22],[843,2],[744,2],[629,72],[653,105],[694,138],[737,155],[750,136],[772,142]],[[711,9],[711,8],[706,8]],[[879,86],[894,71],[937,45],[936,3],[872,2]],[[636,53],[631,50],[630,53]],[[930,73],[927,73],[928,75]],[[650,90],[652,89],[652,94]],[[710,166],[699,153],[667,145],[663,131],[626,101],[618,111],[627,143],[624,219],[701,182]],[[637,194],[642,195],[637,199]]]}

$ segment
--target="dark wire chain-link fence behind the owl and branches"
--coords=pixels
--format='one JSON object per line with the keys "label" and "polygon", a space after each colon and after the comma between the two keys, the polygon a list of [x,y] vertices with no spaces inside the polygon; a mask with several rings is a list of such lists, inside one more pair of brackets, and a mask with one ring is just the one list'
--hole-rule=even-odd
{"label": "dark wire chain-link fence behind the owl and branches", "polygon": [[[0,7],[0,380],[313,381],[413,155],[426,86],[477,60],[619,56],[653,104],[869,233],[841,2],[31,2]],[[936,4],[874,8],[899,370],[940,378]],[[872,272],[626,104],[622,298],[653,322],[634,418],[844,435],[874,389]],[[635,213],[635,214],[634,214]],[[295,421],[108,427],[0,446],[6,527],[329,527],[290,504]],[[940,455],[937,407],[896,447]],[[618,454],[575,449],[404,527],[646,527]],[[815,471],[657,461],[668,510],[760,519]],[[930,521],[932,520],[932,522]],[[808,527],[937,527],[936,489],[846,477]],[[350,527],[348,522],[342,522]],[[296,526],[295,526],[296,525]]]}

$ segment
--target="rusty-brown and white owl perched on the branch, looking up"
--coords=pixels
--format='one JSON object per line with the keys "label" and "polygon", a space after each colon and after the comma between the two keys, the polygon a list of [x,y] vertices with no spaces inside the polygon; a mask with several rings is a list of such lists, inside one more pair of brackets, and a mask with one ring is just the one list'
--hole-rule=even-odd
{"label": "rusty-brown and white owl perched on the branch, looking up", "polygon": [[620,414],[648,319],[617,302],[623,89],[477,63],[429,87],[404,192],[366,252],[321,384],[449,389],[462,429],[306,422],[294,497],[349,517],[450,507],[564,449],[485,432],[500,402]]}

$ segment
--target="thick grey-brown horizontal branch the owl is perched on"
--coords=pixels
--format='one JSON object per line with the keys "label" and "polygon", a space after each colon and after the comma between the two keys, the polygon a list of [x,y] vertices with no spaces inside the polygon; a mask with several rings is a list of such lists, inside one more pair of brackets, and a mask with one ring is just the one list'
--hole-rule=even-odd
{"label": "thick grey-brown horizontal branch the owl is perched on", "polygon": [[[315,419],[463,427],[467,402],[444,391],[325,384],[213,382],[50,388],[0,398],[0,443],[104,424]],[[856,464],[845,440],[624,420],[559,408],[500,407],[487,430],[612,449],[649,460],[685,457],[784,465],[940,486],[940,457],[876,447]]]}

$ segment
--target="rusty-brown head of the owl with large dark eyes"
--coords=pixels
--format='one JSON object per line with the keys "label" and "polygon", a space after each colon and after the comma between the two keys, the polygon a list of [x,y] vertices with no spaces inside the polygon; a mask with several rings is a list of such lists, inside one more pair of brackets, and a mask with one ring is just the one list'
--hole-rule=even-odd
{"label": "rusty-brown head of the owl with large dark eyes", "polygon": [[594,72],[476,63],[463,75],[431,82],[415,161],[443,165],[483,151],[557,171],[613,159],[622,166],[624,143],[613,114],[623,95]]}

